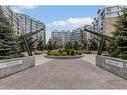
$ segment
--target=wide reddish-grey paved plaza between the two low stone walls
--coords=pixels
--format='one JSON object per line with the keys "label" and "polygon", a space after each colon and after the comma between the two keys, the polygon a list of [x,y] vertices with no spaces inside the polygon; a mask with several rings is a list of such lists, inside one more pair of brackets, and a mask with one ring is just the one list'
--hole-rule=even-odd
{"label": "wide reddish-grey paved plaza between the two low stone walls", "polygon": [[[36,66],[0,79],[0,89],[126,89],[124,80],[78,59],[36,56]],[[44,60],[44,61],[43,61]],[[88,59],[87,59],[88,60]]]}

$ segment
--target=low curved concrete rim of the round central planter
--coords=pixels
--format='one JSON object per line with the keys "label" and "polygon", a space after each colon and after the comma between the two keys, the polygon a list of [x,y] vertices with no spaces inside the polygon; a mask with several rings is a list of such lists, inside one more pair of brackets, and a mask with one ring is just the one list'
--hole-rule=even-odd
{"label": "low curved concrete rim of the round central planter", "polygon": [[74,56],[54,56],[54,55],[45,55],[46,58],[54,58],[54,59],[73,59],[73,58],[81,58],[84,55],[74,55]]}

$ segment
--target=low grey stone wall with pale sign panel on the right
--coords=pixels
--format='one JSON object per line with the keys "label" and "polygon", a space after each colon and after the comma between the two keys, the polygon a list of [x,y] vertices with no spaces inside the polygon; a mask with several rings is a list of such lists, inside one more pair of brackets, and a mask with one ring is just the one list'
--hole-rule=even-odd
{"label": "low grey stone wall with pale sign panel on the right", "polygon": [[127,79],[127,60],[97,55],[96,65]]}

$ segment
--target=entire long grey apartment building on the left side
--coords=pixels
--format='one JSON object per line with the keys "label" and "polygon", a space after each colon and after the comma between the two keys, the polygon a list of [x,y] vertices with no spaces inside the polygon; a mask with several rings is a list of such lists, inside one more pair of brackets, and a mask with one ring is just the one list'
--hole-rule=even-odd
{"label": "entire long grey apartment building on the left side", "polygon": [[16,13],[11,9],[10,6],[1,6],[1,7],[4,11],[5,16],[9,19],[10,23],[13,25],[13,28],[16,31],[17,36],[24,35],[26,33],[34,32],[36,30],[44,28],[44,30],[34,35],[33,38],[39,39],[40,37],[42,37],[44,44],[46,44],[45,25],[42,22],[28,15]]}

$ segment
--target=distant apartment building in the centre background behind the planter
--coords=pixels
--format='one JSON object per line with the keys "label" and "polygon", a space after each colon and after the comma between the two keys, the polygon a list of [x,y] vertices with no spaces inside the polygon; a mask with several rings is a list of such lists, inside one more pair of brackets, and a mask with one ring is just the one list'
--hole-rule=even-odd
{"label": "distant apartment building in the centre background behind the planter", "polygon": [[[91,29],[91,25],[84,26],[86,29]],[[69,30],[54,30],[51,32],[51,40],[53,43],[64,46],[67,42],[78,42],[80,45],[82,42],[90,39],[90,33],[83,30],[84,27],[69,31]]]}

